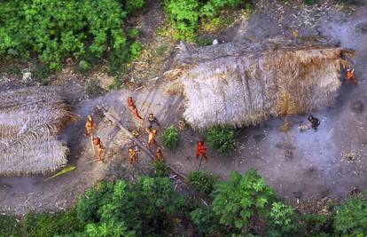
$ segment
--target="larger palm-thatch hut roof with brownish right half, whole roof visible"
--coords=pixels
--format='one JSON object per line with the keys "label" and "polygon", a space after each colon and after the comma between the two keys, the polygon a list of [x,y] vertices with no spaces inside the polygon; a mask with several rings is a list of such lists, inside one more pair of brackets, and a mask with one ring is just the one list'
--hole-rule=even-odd
{"label": "larger palm-thatch hut roof with brownish right half, whole roof visible", "polygon": [[[166,73],[185,96],[185,120],[196,129],[255,125],[269,116],[307,113],[332,104],[340,67],[354,52],[320,40],[192,46],[181,43]],[[293,105],[290,108],[290,105]]]}

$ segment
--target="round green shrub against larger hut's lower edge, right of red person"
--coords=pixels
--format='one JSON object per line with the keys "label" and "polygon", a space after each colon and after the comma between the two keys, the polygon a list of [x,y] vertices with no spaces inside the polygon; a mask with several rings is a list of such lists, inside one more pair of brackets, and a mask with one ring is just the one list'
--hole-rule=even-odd
{"label": "round green shrub against larger hut's lower edge, right of red person", "polygon": [[212,127],[207,130],[207,142],[221,154],[229,153],[236,147],[235,130],[230,125]]}

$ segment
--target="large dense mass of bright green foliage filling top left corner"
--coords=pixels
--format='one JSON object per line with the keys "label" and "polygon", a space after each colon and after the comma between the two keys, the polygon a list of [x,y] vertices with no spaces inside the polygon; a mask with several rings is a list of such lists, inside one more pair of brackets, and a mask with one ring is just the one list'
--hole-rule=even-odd
{"label": "large dense mass of bright green foliage filling top left corner", "polygon": [[124,20],[144,4],[144,0],[2,1],[0,56],[36,56],[47,67],[59,69],[66,58],[90,64],[92,59],[114,55],[112,70],[118,71],[141,50],[141,43],[126,33]]}

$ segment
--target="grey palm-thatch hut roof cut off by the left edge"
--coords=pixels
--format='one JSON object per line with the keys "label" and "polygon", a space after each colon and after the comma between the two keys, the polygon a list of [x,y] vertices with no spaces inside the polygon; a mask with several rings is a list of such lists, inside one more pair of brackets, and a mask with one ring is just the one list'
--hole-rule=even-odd
{"label": "grey palm-thatch hut roof cut off by the left edge", "polygon": [[30,87],[0,94],[0,175],[55,171],[68,148],[58,134],[76,119],[60,87]]}

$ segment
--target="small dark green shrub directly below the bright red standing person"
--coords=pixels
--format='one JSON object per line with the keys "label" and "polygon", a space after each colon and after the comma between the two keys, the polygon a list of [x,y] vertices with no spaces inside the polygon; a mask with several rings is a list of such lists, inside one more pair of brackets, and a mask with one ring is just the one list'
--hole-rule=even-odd
{"label": "small dark green shrub directly below the bright red standing person", "polygon": [[205,171],[190,171],[188,175],[189,183],[201,194],[211,194],[219,175],[207,173]]}

